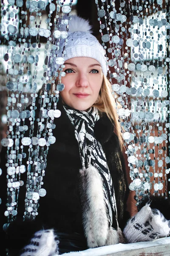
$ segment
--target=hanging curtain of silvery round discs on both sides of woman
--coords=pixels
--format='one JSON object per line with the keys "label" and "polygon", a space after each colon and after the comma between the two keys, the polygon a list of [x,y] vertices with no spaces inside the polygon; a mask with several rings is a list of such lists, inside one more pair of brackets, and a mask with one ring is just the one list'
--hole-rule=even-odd
{"label": "hanging curtain of silvery round discs on both sides of woman", "polygon": [[[169,1],[94,1],[125,140],[129,188],[136,193],[136,204],[150,193],[169,196]],[[7,90],[3,116],[7,137],[1,144],[8,152],[8,222],[17,215],[20,186],[27,188],[23,218],[38,215],[39,199],[46,194],[43,176],[48,148],[55,143],[53,120],[60,116],[57,101],[64,89],[61,78],[72,2],[1,0],[0,54],[6,79],[1,90]],[[34,131],[35,118],[38,131]],[[25,125],[26,119],[30,125]],[[25,172],[27,184],[22,180]]]}

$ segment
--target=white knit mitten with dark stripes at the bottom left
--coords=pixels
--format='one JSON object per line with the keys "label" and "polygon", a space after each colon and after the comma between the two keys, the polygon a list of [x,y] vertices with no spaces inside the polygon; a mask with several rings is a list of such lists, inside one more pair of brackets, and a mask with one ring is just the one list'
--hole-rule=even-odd
{"label": "white knit mitten with dark stripes at the bottom left", "polygon": [[59,254],[59,240],[54,230],[40,230],[34,234],[30,244],[26,245],[20,256],[52,256]]}

